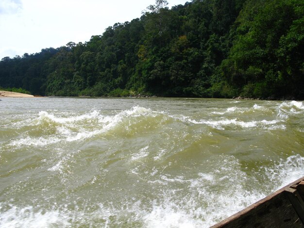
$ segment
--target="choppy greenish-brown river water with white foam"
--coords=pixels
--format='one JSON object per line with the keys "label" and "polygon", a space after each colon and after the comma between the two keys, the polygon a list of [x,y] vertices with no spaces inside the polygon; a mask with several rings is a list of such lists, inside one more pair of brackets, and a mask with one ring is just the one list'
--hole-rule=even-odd
{"label": "choppy greenish-brown river water with white foam", "polygon": [[1,99],[1,228],[210,227],[304,176],[303,101]]}

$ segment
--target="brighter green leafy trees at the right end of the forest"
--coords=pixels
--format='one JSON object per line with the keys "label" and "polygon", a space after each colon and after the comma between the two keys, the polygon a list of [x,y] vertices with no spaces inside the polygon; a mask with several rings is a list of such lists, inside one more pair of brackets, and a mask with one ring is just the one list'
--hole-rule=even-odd
{"label": "brighter green leafy trees at the right end of the forest", "polygon": [[258,3],[248,1],[237,19],[235,43],[222,62],[225,78],[242,88],[242,96],[303,98],[304,3]]}

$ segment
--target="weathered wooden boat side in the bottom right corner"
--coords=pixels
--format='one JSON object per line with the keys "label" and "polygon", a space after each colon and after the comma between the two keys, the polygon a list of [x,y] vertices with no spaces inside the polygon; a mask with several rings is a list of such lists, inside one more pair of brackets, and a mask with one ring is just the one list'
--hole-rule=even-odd
{"label": "weathered wooden boat side in the bottom right corner", "polygon": [[304,228],[304,177],[212,228]]}

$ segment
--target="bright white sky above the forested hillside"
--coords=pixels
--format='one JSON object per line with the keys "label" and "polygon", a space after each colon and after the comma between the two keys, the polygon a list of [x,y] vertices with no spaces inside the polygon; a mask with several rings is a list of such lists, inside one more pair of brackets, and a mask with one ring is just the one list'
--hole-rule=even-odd
{"label": "bright white sky above the forested hillside", "polygon": [[[168,7],[187,0],[167,0]],[[190,1],[190,0],[188,0]],[[0,60],[89,41],[140,17],[155,0],[0,0]]]}

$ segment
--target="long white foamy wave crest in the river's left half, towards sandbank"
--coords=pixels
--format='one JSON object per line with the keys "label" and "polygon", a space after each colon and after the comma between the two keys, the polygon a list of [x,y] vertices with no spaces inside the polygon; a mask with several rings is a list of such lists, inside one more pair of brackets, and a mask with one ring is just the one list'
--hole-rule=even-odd
{"label": "long white foamy wave crest in the river's left half, towards sandbank", "polygon": [[[145,115],[155,115],[150,109],[135,106],[130,110],[124,110],[121,113],[115,115],[101,115],[99,111],[92,111],[90,113],[85,113],[76,116],[60,117],[54,114],[49,114],[48,112],[39,112],[39,117],[34,121],[48,121],[56,123],[55,130],[57,134],[55,135],[44,135],[41,137],[27,136],[21,139],[16,139],[11,142],[11,146],[47,146],[50,144],[55,144],[61,141],[73,142],[79,140],[85,140],[93,136],[107,132],[119,123],[128,119],[129,117],[145,116]],[[32,120],[31,120],[32,121]],[[86,121],[86,122],[84,122]],[[93,122],[94,121],[94,122]],[[98,125],[100,124],[100,125]],[[28,126],[29,124],[27,124]],[[47,130],[49,127],[45,127]],[[88,129],[89,128],[89,129]]]}

